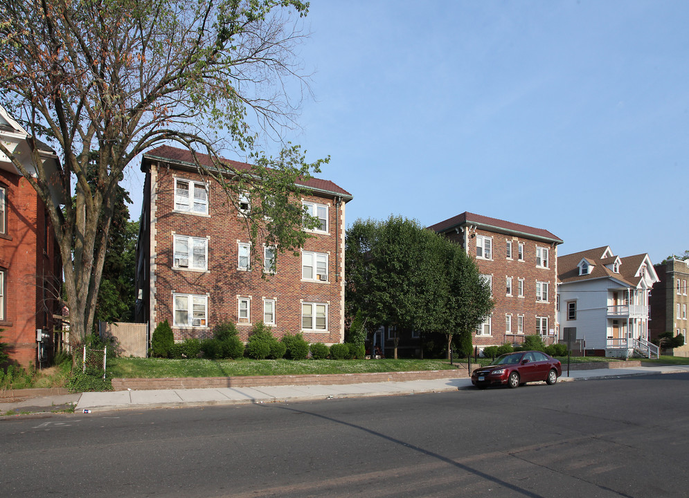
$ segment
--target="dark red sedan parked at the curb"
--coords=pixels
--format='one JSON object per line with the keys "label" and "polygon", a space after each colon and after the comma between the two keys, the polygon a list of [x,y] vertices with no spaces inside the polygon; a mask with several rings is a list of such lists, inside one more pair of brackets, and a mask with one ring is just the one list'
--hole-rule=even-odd
{"label": "dark red sedan parked at the curb", "polygon": [[478,389],[501,384],[514,388],[538,380],[553,385],[561,375],[560,360],[541,351],[519,351],[499,356],[490,365],[474,370],[472,384]]}

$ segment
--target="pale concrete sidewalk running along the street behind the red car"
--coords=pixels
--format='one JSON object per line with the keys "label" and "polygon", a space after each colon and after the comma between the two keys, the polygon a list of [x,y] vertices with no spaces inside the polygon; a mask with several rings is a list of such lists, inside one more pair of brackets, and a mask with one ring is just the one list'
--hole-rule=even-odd
{"label": "pale concrete sidewalk running along the street behind the red car", "polygon": [[[620,378],[644,374],[675,374],[689,371],[686,366],[644,366],[619,369],[572,370],[567,376],[566,365],[558,382]],[[208,389],[157,389],[147,391],[86,392],[42,396],[18,402],[0,403],[0,414],[65,411],[75,405],[75,412],[88,410],[106,412],[119,409],[146,409],[233,405],[238,403],[279,403],[286,401],[359,398],[364,396],[399,396],[471,387],[468,378],[409,380],[405,382],[366,382],[344,385],[284,385],[265,387],[226,387]]]}

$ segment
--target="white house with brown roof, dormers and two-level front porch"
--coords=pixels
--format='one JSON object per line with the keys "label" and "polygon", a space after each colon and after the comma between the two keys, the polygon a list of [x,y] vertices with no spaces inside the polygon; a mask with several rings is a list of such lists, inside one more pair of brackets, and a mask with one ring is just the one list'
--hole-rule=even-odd
{"label": "white house with brown roof, dormers and two-level front porch", "polygon": [[587,354],[654,357],[648,297],[659,281],[647,254],[619,257],[609,246],[557,258],[560,339],[576,338]]}

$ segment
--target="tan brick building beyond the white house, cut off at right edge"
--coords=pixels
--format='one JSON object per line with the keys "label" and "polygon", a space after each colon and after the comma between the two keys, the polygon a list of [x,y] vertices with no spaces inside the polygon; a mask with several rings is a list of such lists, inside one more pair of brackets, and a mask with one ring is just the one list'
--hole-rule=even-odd
{"label": "tan brick building beyond the white house, cut off at right edge", "polygon": [[[653,267],[658,274],[659,282],[653,284],[650,296],[650,337],[657,338],[661,333],[672,332],[672,335],[682,334],[686,341],[689,329],[689,259],[671,259]],[[681,349],[688,350],[687,347]]]}

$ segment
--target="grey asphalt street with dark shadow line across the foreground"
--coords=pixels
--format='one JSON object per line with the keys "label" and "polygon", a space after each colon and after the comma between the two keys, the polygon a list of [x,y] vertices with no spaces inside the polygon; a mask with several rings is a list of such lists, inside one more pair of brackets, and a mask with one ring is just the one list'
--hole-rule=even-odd
{"label": "grey asphalt street with dark shadow line across the foreground", "polygon": [[689,374],[0,423],[3,497],[686,497]]}

